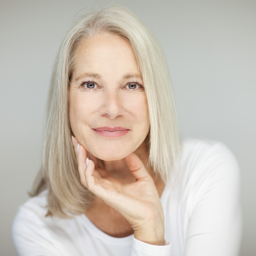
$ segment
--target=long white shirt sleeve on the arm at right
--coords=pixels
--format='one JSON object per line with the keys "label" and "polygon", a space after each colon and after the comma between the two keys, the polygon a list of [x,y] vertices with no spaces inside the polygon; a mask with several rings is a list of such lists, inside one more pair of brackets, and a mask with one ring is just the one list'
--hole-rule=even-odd
{"label": "long white shirt sleeve on the arm at right", "polygon": [[[234,155],[222,143],[204,153],[196,167],[193,212],[184,256],[236,256],[241,239],[240,174]],[[191,203],[190,202],[190,203]]]}

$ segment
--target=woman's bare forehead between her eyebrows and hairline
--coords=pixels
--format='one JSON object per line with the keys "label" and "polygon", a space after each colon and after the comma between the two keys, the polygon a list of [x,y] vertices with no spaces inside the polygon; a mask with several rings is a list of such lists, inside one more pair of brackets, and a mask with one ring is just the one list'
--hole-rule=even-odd
{"label": "woman's bare forehead between her eyebrows and hairline", "polygon": [[130,43],[115,34],[98,34],[81,40],[75,51],[74,75],[81,72],[104,75],[140,74]]}

